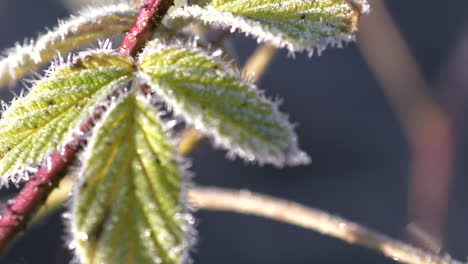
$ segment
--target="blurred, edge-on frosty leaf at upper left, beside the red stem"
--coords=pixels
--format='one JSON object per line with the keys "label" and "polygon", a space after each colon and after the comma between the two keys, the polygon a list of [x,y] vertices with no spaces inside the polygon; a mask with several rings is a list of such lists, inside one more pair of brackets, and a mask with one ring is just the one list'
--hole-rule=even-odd
{"label": "blurred, edge-on frosty leaf at upper left, beside the red stem", "polygon": [[89,9],[59,22],[37,40],[7,50],[7,56],[0,60],[0,86],[23,77],[58,53],[65,54],[96,39],[127,31],[137,14],[134,6],[117,4]]}

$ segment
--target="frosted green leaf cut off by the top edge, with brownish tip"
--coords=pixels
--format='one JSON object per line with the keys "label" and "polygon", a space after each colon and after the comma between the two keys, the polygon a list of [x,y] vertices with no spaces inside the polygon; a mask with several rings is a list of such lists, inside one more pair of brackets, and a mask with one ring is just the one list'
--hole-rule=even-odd
{"label": "frosted green leaf cut off by the top edge, with brownish tip", "polygon": [[197,19],[239,30],[291,52],[321,53],[354,39],[366,0],[199,0],[174,10],[174,19]]}

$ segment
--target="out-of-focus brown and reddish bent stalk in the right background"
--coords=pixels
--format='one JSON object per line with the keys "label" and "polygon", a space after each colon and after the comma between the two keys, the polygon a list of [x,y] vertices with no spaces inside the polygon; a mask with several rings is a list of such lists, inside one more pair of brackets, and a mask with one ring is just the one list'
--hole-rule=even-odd
{"label": "out-of-focus brown and reddish bent stalk in the right background", "polygon": [[372,12],[362,19],[358,42],[408,139],[409,219],[412,226],[432,239],[420,238],[418,232],[410,232],[410,236],[419,245],[438,251],[445,233],[452,182],[452,125],[430,94],[428,83],[382,0],[369,2]]}

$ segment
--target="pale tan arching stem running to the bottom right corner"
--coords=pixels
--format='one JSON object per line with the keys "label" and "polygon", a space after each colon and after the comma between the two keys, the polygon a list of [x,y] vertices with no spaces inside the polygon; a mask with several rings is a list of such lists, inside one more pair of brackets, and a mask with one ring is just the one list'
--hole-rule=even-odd
{"label": "pale tan arching stem running to the bottom right corner", "polygon": [[251,214],[311,229],[351,244],[377,250],[385,256],[409,264],[461,264],[448,256],[438,256],[393,240],[357,223],[298,203],[220,188],[194,187],[189,201],[199,209]]}

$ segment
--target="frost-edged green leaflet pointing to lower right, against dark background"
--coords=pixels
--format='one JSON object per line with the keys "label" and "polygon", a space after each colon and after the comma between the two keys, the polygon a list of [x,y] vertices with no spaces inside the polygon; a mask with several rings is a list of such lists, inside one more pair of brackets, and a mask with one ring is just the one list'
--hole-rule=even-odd
{"label": "frost-edged green leaflet pointing to lower right, against dark background", "polygon": [[155,41],[140,56],[140,75],[176,114],[231,156],[278,167],[308,163],[276,105],[214,55]]}

